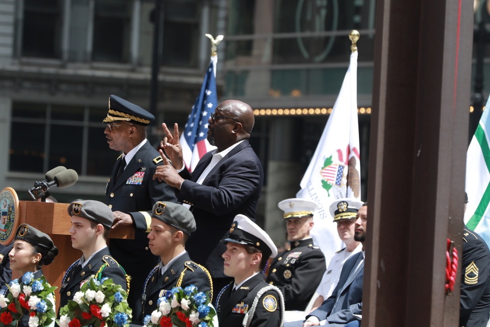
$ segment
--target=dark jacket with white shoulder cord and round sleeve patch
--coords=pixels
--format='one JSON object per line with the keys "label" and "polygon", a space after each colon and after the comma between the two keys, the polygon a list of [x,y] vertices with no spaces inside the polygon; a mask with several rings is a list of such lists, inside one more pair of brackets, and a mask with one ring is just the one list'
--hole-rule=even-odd
{"label": "dark jacket with white shoulder cord and round sleeve patch", "polygon": [[[216,312],[218,313],[220,326],[242,327],[245,314],[250,313],[250,310],[252,310],[252,303],[257,293],[262,288],[270,286],[264,281],[261,273],[245,281],[232,294],[233,285],[234,282],[223,287],[216,299]],[[257,302],[255,313],[249,326],[282,326],[284,311],[280,301],[281,297],[277,291],[270,290],[265,292]]]}

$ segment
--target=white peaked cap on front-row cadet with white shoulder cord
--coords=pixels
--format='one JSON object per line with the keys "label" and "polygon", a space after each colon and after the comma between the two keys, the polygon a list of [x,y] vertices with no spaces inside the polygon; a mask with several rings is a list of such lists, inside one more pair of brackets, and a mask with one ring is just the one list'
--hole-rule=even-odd
{"label": "white peaked cap on front-row cadet with white shoulder cord", "polygon": [[261,250],[267,257],[275,257],[277,248],[270,236],[257,224],[244,215],[236,215],[231,228],[221,240],[221,243],[237,243],[250,245]]}

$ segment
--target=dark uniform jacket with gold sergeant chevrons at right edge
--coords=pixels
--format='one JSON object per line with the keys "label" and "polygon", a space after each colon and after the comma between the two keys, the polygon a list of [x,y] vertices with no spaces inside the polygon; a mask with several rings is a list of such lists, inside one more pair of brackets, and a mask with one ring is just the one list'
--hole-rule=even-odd
{"label": "dark uniform jacket with gold sergeant chevrons at right edge", "polygon": [[466,226],[461,264],[460,326],[485,327],[490,315],[490,251]]}

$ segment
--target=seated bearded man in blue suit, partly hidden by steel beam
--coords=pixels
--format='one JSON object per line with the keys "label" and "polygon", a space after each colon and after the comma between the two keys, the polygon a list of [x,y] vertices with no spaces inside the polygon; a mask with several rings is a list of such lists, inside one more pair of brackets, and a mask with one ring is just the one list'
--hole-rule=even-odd
{"label": "seated bearded man in blue suit, partly hidden by steel beam", "polygon": [[[362,315],[364,245],[366,241],[367,220],[368,206],[367,203],[364,203],[356,215],[354,234],[354,239],[363,244],[363,251],[354,254],[345,261],[339,282],[332,295],[318,309],[306,316],[306,321],[302,324],[303,327],[319,326],[320,321],[325,326],[345,326],[347,323],[358,320],[354,315]],[[301,322],[286,323],[284,326],[301,326]]]}

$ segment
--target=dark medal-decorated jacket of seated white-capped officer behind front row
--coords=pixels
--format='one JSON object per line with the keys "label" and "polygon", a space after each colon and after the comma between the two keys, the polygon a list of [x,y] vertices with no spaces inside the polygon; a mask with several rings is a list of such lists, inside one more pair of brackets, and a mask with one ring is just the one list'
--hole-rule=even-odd
{"label": "dark medal-decorated jacket of seated white-capped officer behind front row", "polygon": [[291,242],[291,250],[272,261],[266,281],[282,291],[286,310],[304,310],[325,270],[325,256],[309,238]]}

